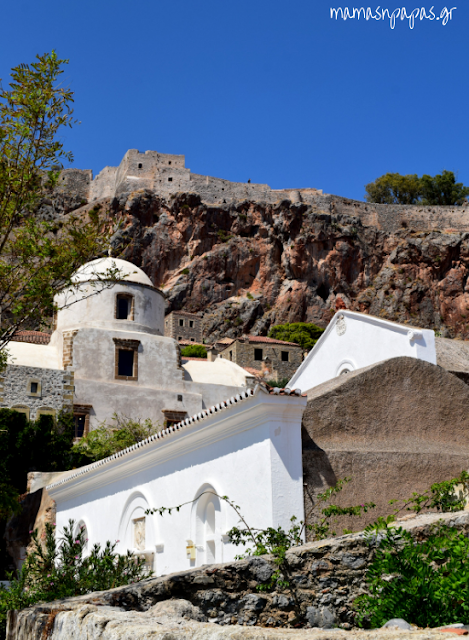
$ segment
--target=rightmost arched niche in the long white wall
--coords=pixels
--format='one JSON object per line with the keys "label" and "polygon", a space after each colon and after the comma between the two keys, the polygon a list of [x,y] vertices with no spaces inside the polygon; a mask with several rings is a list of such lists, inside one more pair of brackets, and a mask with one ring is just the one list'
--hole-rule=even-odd
{"label": "rightmost arched niche in the long white wall", "polygon": [[196,493],[192,507],[192,535],[196,546],[196,566],[223,561],[222,508],[211,484],[204,484]]}

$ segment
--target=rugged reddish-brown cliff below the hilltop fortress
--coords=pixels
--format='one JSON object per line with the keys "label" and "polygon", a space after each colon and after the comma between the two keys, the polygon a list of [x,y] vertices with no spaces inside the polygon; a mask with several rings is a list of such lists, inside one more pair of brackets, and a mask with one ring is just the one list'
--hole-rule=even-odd
{"label": "rugged reddish-brown cliff below the hilltop fortress", "polygon": [[265,335],[283,322],[324,327],[339,308],[468,337],[466,209],[456,212],[457,228],[442,214],[435,229],[434,211],[425,228],[425,211],[413,220],[404,207],[411,222],[403,227],[402,212],[393,219],[355,204],[322,197],[208,205],[195,194],[137,191],[93,207],[109,212],[114,255],[140,266],[170,310],[203,313],[211,341]]}

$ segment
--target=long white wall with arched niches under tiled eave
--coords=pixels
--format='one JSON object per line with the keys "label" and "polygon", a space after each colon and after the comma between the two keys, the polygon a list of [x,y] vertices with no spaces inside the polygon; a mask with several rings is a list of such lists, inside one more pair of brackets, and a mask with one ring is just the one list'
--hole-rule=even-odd
{"label": "long white wall with arched niches under tiled eave", "polygon": [[[226,532],[239,521],[226,503],[209,495],[171,515],[145,516],[147,508],[179,505],[214,490],[240,505],[253,527],[288,529],[292,515],[302,519],[306,398],[259,389],[249,394],[50,485],[58,532],[72,518],[86,526],[89,545],[119,540],[120,552],[137,551],[134,521],[145,517],[143,551],[161,575],[234,559],[240,549],[228,543]],[[195,560],[187,557],[189,540],[196,545]]]}

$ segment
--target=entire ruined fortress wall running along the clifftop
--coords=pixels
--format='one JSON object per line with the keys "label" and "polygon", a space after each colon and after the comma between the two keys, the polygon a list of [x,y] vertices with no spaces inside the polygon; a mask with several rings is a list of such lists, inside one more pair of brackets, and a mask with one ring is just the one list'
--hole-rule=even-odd
{"label": "entire ruined fortress wall running along the clifftop", "polygon": [[365,226],[393,233],[414,231],[469,231],[469,204],[464,207],[381,205],[323,194],[319,189],[271,189],[267,184],[230,182],[191,173],[185,156],[129,149],[118,167],[105,167],[93,180],[92,172],[65,169],[58,190],[89,201],[113,197],[137,189],[149,189],[169,197],[178,192],[200,195],[207,204],[232,204],[242,200],[275,204],[282,200],[305,203],[331,215],[355,216]]}

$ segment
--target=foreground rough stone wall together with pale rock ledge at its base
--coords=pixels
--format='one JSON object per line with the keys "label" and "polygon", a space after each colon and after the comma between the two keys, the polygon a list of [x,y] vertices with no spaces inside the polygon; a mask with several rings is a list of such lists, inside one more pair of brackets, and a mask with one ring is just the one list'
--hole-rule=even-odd
{"label": "foreground rough stone wall together with pale rock ledge at its base", "polygon": [[[422,539],[441,518],[466,533],[469,530],[466,512],[421,515],[399,524]],[[354,624],[352,605],[365,592],[364,575],[373,550],[363,533],[291,549],[287,553],[291,588],[280,592],[257,589],[275,569],[273,559],[263,556],[36,605],[10,612],[7,640],[342,638],[346,637],[342,629]],[[269,628],[255,628],[259,626]],[[303,630],[291,628],[295,626]],[[375,634],[409,637],[387,635],[394,633],[386,629],[353,635],[369,640]],[[412,631],[411,637],[433,634]]]}

